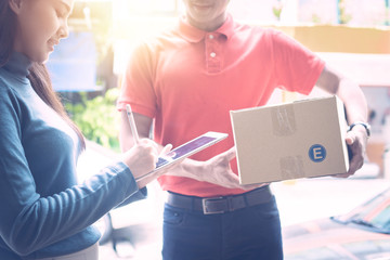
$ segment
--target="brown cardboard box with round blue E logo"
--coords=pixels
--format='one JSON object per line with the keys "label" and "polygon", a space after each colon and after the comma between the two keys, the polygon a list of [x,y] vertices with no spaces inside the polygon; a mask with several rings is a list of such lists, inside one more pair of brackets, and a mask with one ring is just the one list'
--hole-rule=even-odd
{"label": "brown cardboard box with round blue E logo", "polygon": [[242,184],[344,173],[347,122],[337,96],[231,112]]}

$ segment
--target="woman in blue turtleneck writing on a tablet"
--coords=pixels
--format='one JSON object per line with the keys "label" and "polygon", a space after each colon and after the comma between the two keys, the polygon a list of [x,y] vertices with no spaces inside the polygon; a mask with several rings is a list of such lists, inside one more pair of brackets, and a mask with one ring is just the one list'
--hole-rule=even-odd
{"label": "woman in blue turtleneck writing on a tablet", "polygon": [[[158,147],[148,140],[76,185],[84,143],[43,63],[68,35],[74,0],[0,0],[0,259],[98,259],[90,226],[143,195]],[[168,151],[170,147],[166,147]],[[161,152],[164,153],[164,152]]]}

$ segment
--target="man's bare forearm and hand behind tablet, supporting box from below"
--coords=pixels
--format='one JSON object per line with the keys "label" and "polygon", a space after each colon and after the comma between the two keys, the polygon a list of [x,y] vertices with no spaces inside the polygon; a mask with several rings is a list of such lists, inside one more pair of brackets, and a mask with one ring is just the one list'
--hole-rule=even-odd
{"label": "man's bare forearm and hand behind tablet, supporting box from below", "polygon": [[[133,115],[140,139],[148,139],[153,119],[138,113],[133,113]],[[126,110],[121,112],[119,141],[123,153],[134,145]],[[160,145],[160,147],[162,148],[162,145]],[[239,185],[238,177],[230,167],[230,161],[235,158],[235,147],[232,147],[231,150],[217,155],[207,161],[197,161],[186,158],[180,165],[169,168],[167,174],[186,177],[229,188],[251,190],[253,187],[261,186],[262,184],[245,186]]]}

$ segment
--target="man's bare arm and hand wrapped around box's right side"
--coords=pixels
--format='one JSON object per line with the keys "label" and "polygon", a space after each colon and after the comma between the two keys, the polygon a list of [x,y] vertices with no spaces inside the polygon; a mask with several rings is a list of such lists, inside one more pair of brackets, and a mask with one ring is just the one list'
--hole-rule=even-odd
{"label": "man's bare arm and hand wrapped around box's right side", "polygon": [[[360,86],[353,80],[325,66],[316,81],[316,86],[340,98],[346,106],[349,125],[356,121],[367,121],[368,109],[366,99]],[[362,168],[367,138],[366,129],[361,125],[356,125],[352,131],[347,133],[346,141],[351,147],[353,157],[350,161],[348,173],[340,174],[340,177],[349,177]]]}

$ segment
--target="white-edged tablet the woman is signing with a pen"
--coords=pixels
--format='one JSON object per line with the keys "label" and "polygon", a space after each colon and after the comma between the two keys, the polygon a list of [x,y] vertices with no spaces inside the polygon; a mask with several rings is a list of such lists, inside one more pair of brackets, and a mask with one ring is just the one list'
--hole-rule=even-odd
{"label": "white-edged tablet the woman is signing with a pen", "polygon": [[180,145],[179,147],[170,151],[165,156],[161,156],[158,158],[158,161],[156,164],[156,168],[140,177],[136,178],[135,181],[141,181],[142,179],[146,178],[147,176],[155,173],[156,171],[159,171],[161,169],[167,168],[168,166],[171,166],[174,162],[178,162],[179,160],[186,158],[193,154],[196,154],[222,140],[227,138],[227,133],[220,133],[220,132],[207,132],[205,134],[202,134],[200,136],[191,140],[190,142]]}

